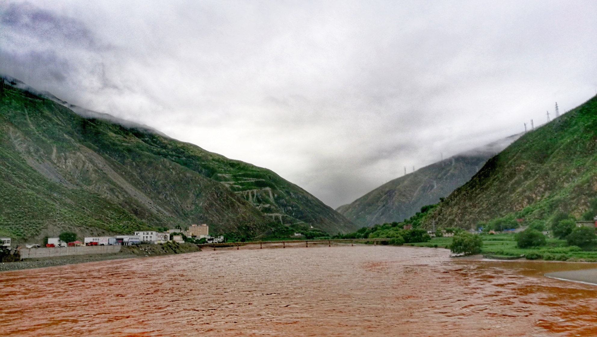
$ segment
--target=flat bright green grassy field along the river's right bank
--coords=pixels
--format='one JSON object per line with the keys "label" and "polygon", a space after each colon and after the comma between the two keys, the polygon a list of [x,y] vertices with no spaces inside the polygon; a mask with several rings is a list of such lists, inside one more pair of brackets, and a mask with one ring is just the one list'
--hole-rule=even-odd
{"label": "flat bright green grassy field along the river's right bank", "polygon": [[[447,248],[451,242],[451,237],[433,237],[430,242],[407,243],[407,245]],[[565,240],[547,239],[547,245],[544,247],[518,248],[514,234],[484,235],[482,254],[497,258],[525,255],[528,259],[597,262],[597,252],[587,252],[576,246],[566,246]]]}

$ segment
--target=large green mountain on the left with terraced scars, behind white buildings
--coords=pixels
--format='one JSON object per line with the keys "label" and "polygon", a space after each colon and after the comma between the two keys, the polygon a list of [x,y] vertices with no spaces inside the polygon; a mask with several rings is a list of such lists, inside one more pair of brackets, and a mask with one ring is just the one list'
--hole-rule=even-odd
{"label": "large green mountain on the left with terraced scars, behind white buildings", "polygon": [[207,223],[212,233],[275,224],[357,227],[275,174],[150,128],[0,81],[0,236],[24,240]]}

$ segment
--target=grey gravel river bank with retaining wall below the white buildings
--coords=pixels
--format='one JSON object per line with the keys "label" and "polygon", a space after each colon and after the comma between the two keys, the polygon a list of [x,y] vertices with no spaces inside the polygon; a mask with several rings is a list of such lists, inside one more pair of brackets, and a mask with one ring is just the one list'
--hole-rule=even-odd
{"label": "grey gravel river bank with retaining wall below the white buildings", "polygon": [[130,259],[144,256],[174,255],[192,252],[201,252],[201,249],[191,243],[176,242],[164,243],[163,245],[122,246],[118,253],[68,255],[57,256],[53,258],[25,259],[25,261],[20,262],[5,262],[0,264],[0,271],[56,267],[67,264],[109,261],[113,259]]}

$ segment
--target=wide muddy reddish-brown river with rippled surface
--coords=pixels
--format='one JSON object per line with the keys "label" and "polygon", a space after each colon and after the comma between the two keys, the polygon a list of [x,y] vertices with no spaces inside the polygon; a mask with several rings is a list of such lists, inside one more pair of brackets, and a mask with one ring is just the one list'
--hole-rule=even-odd
{"label": "wide muddy reddish-brown river with rippled surface", "polygon": [[596,336],[597,268],[392,246],[241,248],[0,273],[0,336]]}

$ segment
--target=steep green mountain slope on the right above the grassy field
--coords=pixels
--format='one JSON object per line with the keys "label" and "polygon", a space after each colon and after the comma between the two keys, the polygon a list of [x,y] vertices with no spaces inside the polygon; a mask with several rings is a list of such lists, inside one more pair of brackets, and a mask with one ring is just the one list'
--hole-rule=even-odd
{"label": "steep green mountain slope on the right above the grassy field", "polygon": [[597,197],[597,97],[528,132],[440,203],[427,224],[580,217]]}

